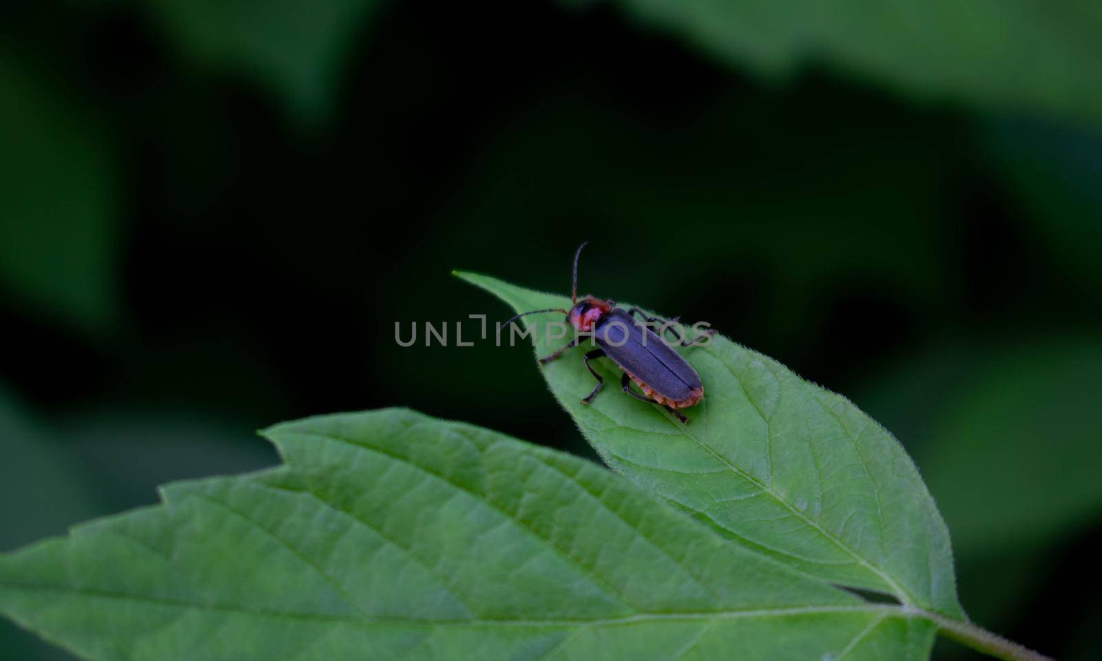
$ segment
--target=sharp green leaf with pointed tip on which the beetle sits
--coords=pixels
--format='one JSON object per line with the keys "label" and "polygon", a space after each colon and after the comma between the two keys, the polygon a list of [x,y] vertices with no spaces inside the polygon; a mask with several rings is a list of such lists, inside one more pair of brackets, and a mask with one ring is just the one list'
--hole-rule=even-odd
{"label": "sharp green leaf with pointed tip on which the beetle sits", "polygon": [[[517,312],[570,305],[564,296],[457,274]],[[541,322],[551,318],[525,317],[537,355],[566,342],[549,342]],[[588,407],[580,400],[594,380],[580,356],[542,369],[593,447],[635,483],[801,572],[963,618],[949,532],[887,431],[846,399],[725,337],[682,355],[704,384],[704,400],[682,411],[685,425],[618,392],[619,371],[607,360],[596,364],[611,387]]]}

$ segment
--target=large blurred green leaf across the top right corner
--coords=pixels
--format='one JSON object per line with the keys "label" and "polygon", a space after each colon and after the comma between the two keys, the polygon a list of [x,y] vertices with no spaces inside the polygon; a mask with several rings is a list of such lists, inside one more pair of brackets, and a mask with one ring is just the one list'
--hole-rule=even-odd
{"label": "large blurred green leaf across the top right corner", "polygon": [[1093,0],[622,0],[633,19],[766,77],[825,64],[920,98],[1102,121]]}

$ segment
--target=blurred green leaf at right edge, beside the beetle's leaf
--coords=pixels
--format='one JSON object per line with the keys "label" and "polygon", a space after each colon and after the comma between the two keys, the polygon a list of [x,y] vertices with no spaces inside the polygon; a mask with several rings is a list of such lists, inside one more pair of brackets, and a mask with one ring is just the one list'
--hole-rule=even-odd
{"label": "blurred green leaf at right edge, beside the beetle's leaf", "polygon": [[1023,551],[1102,516],[1102,480],[1093,479],[1102,445],[1079,442],[1102,438],[1102,343],[1046,337],[1001,354],[955,397],[941,391],[948,411],[925,451],[965,560]]}

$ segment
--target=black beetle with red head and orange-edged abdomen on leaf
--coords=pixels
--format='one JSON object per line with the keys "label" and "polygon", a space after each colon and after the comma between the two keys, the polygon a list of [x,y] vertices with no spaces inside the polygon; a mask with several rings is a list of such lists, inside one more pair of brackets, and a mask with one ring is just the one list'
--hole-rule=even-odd
{"label": "black beetle with red head and orange-edged abdomen on leaf", "polygon": [[[549,307],[545,310],[532,310],[522,312],[503,324],[508,326],[514,321],[530,314],[542,314],[547,312],[562,312],[566,315],[566,323],[576,330],[574,339],[557,351],[539,358],[537,362],[547,365],[565,353],[568,349],[580,346],[581,334],[587,334],[593,338],[597,348],[586,353],[582,357],[582,362],[590,370],[593,378],[597,380],[593,391],[582,399],[583,404],[588,404],[593,398],[601,392],[605,381],[597,373],[591,360],[607,357],[623,370],[620,377],[620,388],[631,397],[651,404],[666,407],[682,423],[689,420],[681,414],[678,409],[685,409],[695,405],[704,397],[704,387],[700,381],[700,375],[689,365],[680,354],[670,348],[650,325],[661,324],[659,333],[670,332],[677,338],[680,346],[695,346],[706,343],[714,333],[712,329],[705,330],[693,340],[684,340],[672,327],[678,317],[663,319],[656,316],[647,316],[637,307],[624,311],[616,307],[616,302],[602,300],[594,296],[583,296],[577,300],[577,260],[582,256],[582,249],[586,243],[577,247],[574,253],[574,284],[570,293],[571,308]],[[636,318],[636,315],[640,319]],[[642,390],[642,394],[631,389],[631,381],[635,381]]]}

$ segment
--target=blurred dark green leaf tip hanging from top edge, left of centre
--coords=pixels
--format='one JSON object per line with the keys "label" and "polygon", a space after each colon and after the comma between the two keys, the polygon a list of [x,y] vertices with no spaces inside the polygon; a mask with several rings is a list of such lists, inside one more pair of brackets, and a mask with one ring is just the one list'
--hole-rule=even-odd
{"label": "blurred dark green leaf tip hanging from top edge, left of centre", "polygon": [[329,111],[354,37],[381,6],[381,0],[151,3],[188,57],[250,75],[307,121]]}

